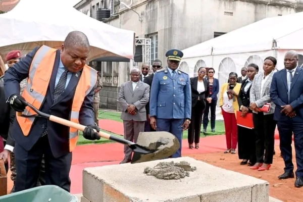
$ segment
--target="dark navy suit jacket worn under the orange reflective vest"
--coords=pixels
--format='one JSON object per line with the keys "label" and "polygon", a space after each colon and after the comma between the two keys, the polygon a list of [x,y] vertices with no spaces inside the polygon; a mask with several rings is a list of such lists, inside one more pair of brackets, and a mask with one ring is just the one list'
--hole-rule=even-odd
{"label": "dark navy suit jacket worn under the orange reflective vest", "polygon": [[[39,47],[35,48],[33,52],[29,53],[22,61],[15,64],[12,68],[6,71],[4,76],[6,98],[10,97],[13,94],[20,93],[19,83],[29,76],[29,68],[38,48]],[[55,81],[59,62],[60,50],[58,50],[56,54],[51,80],[49,81],[46,97],[43,101],[43,105],[41,106],[40,111],[46,114],[61,117],[63,119],[69,119],[71,113],[72,99],[75,93],[78,80],[81,77],[82,70],[72,74],[67,88],[57,99],[57,101],[53,103]],[[82,125],[94,125],[94,112],[92,107],[94,89],[95,88],[92,88],[92,90],[83,100],[82,107],[79,113],[79,122]],[[69,128],[61,124],[43,118],[36,118],[29,135],[24,136],[19,123],[17,122],[17,120],[15,120],[12,130],[10,129],[10,131],[12,131],[13,138],[19,145],[21,145],[25,150],[30,150],[40,138],[45,127],[47,127],[49,145],[51,146],[52,153],[55,158],[68,154]]]}

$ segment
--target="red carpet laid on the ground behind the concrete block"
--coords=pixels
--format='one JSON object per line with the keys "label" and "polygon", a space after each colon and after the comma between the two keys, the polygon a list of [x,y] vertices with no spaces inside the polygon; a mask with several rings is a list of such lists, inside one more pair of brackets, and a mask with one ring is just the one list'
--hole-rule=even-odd
{"label": "red carpet laid on the ground behind the concrete block", "polygon": [[[100,120],[100,127],[104,130],[123,134],[123,123],[111,120]],[[275,145],[279,140],[275,141]],[[200,138],[199,149],[189,149],[187,140],[182,141],[182,155],[208,154],[226,149],[225,135]],[[82,193],[82,172],[87,167],[119,164],[124,157],[123,145],[119,143],[80,145],[73,151],[70,178],[71,193]]]}

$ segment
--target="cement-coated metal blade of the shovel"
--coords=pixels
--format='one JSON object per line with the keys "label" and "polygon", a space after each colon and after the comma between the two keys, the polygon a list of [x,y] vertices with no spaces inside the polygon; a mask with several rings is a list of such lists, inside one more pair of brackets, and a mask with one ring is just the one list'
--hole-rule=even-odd
{"label": "cement-coated metal blade of the shovel", "polygon": [[154,152],[143,154],[134,151],[132,164],[166,159],[175,154],[180,148],[176,136],[169,132],[141,132],[137,144],[145,149],[154,150]]}

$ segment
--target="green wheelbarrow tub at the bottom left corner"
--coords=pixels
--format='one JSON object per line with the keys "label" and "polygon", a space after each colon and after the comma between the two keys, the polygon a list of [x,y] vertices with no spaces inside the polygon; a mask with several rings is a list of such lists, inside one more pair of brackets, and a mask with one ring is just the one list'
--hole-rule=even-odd
{"label": "green wheelbarrow tub at the bottom left corner", "polygon": [[38,186],[0,196],[0,202],[77,202],[78,198],[55,185]]}

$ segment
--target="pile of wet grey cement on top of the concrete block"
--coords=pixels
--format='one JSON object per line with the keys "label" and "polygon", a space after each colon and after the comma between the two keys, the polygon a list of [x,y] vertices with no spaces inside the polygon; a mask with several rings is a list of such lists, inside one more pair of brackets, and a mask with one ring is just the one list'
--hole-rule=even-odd
{"label": "pile of wet grey cement on top of the concrete block", "polygon": [[189,177],[189,172],[195,171],[196,167],[191,167],[186,161],[180,163],[161,162],[154,168],[146,167],[144,173],[146,175],[152,175],[158,179],[164,180],[179,180],[184,177]]}

